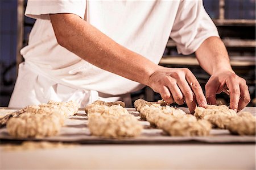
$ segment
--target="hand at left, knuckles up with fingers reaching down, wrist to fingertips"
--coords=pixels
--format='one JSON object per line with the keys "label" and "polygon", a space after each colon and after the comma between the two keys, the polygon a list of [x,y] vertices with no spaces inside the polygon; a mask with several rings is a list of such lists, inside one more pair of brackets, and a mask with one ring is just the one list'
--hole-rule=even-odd
{"label": "hand at left, knuckles up with fingers reaching down, wrist to fingertips", "polygon": [[202,107],[207,105],[207,100],[199,82],[187,68],[164,68],[159,66],[151,74],[148,86],[155,92],[160,93],[167,103],[175,101],[182,105],[186,102],[191,113],[196,108],[196,101]]}

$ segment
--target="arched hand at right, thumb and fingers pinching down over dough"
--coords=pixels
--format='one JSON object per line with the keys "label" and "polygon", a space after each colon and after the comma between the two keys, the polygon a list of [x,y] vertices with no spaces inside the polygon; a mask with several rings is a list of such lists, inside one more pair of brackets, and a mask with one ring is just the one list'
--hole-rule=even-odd
{"label": "arched hand at right, thumb and fingers pinching down over dough", "polygon": [[216,104],[216,94],[225,92],[230,95],[230,109],[242,110],[250,102],[250,93],[246,81],[233,71],[213,73],[205,85],[207,101]]}

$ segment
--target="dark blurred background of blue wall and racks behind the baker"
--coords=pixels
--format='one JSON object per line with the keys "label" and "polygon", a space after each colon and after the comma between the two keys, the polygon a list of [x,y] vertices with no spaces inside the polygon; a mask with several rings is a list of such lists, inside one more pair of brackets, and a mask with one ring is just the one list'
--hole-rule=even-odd
{"label": "dark blurred background of blue wall and racks behind the baker", "polygon": [[[203,0],[205,9],[216,24],[224,41],[234,71],[245,78],[251,94],[250,106],[255,106],[255,1],[254,0]],[[17,66],[23,61],[20,48],[28,41],[35,22],[24,16],[26,1],[0,0],[1,46],[0,46],[0,106],[7,106],[13,92]],[[209,75],[200,68],[195,55],[178,55],[175,43],[170,39],[160,65],[187,67],[203,86]],[[148,101],[160,99],[159,94],[144,88],[132,94],[132,98]],[[218,101],[228,104],[229,97],[217,95]]]}

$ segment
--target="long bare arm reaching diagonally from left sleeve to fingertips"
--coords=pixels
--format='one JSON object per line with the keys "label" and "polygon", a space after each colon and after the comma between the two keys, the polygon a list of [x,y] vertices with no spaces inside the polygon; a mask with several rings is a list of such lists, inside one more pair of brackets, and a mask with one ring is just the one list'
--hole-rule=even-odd
{"label": "long bare arm reaching diagonally from left sleeve to fingertips", "polygon": [[182,104],[185,100],[191,112],[196,101],[201,106],[206,105],[203,90],[188,69],[160,67],[115,43],[77,15],[51,14],[50,18],[57,42],[89,63],[150,86],[169,103],[175,100]]}

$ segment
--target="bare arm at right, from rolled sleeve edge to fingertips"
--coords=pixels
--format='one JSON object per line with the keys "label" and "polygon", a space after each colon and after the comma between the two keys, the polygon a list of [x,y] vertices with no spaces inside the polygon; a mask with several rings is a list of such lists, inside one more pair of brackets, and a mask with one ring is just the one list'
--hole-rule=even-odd
{"label": "bare arm at right, from rolled sleeve edge to fingertips", "polygon": [[[211,77],[205,85],[207,101],[216,104],[216,93],[229,90],[230,108],[241,110],[250,102],[248,86],[230,65],[228,52],[220,38],[210,37],[196,51],[201,67]],[[228,88],[228,89],[227,89]]]}

